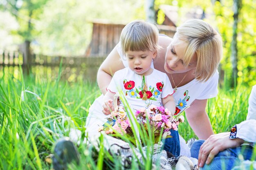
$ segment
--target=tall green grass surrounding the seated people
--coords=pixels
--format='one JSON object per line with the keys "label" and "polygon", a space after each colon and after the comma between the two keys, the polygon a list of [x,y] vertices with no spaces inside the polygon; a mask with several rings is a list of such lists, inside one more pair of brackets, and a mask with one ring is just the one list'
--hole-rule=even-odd
{"label": "tall green grass surrounding the seated people", "polygon": [[[209,99],[207,113],[214,132],[229,131],[246,119],[250,91],[245,86],[234,90],[224,87],[218,97]],[[32,75],[23,77],[21,73],[13,77],[5,71],[0,79],[0,169],[51,169],[49,157],[55,142],[67,136],[70,128],[85,130],[88,109],[100,94],[96,82],[67,83],[60,79],[60,74],[57,79],[42,81]],[[186,122],[181,124],[179,132],[185,140],[195,137]],[[81,164],[71,165],[73,169],[121,167],[120,158],[110,156],[102,147],[95,152],[95,148],[84,144],[78,150]],[[151,159],[145,158],[145,169],[149,170],[148,161]],[[136,161],[132,162],[132,169],[138,166]]]}

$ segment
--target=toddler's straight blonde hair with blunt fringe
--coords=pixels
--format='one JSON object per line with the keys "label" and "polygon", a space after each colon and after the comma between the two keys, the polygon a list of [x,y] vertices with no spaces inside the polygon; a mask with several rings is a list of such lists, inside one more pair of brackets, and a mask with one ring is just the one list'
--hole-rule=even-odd
{"label": "toddler's straight blonde hair with blunt fringe", "polygon": [[120,42],[122,52],[151,51],[157,52],[159,31],[155,24],[135,20],[127,24],[121,32]]}

